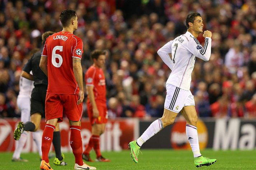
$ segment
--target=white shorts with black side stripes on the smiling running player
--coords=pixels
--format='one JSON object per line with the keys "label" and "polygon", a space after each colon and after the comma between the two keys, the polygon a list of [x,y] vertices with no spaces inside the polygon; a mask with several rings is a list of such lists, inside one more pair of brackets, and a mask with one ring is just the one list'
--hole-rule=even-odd
{"label": "white shorts with black side stripes on the smiling running player", "polygon": [[191,91],[183,90],[172,84],[166,84],[166,99],[164,108],[179,113],[184,106],[195,106],[194,96]]}

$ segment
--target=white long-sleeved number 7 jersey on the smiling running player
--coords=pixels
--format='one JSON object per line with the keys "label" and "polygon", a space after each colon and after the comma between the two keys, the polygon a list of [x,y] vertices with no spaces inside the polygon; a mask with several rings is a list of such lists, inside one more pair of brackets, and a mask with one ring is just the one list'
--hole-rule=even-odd
{"label": "white long-sleeved number 7 jersey on the smiling running player", "polygon": [[[208,61],[211,55],[211,38],[205,38],[205,45],[190,33],[186,32],[166,43],[158,50],[158,55],[172,70],[166,84],[172,84],[184,90],[190,90],[191,73],[196,57]],[[169,57],[172,53],[172,58]]]}

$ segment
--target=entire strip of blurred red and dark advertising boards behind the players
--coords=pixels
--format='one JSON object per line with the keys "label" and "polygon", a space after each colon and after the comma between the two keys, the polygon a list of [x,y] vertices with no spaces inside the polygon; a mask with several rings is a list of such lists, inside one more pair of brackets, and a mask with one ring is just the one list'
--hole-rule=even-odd
{"label": "entire strip of blurred red and dark advertising boards behind the players", "polygon": [[[118,118],[109,120],[101,135],[102,151],[121,151],[127,149],[130,141],[137,139],[157,118],[139,120],[137,118]],[[13,131],[19,119],[0,119],[0,152],[14,151]],[[41,132],[45,126],[41,121]],[[69,123],[60,123],[62,152],[70,152]],[[197,122],[200,149],[214,150],[253,150],[256,148],[256,119],[199,119]],[[82,120],[81,130],[83,149],[88,144],[91,132],[89,120]],[[51,150],[53,147],[51,147]],[[186,136],[186,121],[177,117],[173,125],[150,138],[143,149],[188,149],[191,150]],[[23,152],[36,152],[32,134],[29,133]]]}

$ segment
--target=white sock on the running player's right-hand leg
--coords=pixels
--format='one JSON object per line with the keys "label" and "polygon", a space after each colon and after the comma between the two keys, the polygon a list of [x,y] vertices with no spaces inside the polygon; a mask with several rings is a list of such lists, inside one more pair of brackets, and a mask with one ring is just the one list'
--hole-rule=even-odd
{"label": "white sock on the running player's right-hand leg", "polygon": [[187,138],[190,143],[191,149],[193,151],[194,157],[201,156],[200,149],[199,149],[198,135],[197,135],[197,127],[187,124],[186,134],[187,134]]}

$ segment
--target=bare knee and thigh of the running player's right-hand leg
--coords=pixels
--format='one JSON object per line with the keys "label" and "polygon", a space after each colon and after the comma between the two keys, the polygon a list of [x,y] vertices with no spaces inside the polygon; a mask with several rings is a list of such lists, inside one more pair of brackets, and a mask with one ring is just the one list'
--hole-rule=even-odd
{"label": "bare knee and thigh of the running player's right-hand leg", "polygon": [[181,110],[182,116],[186,119],[187,124],[196,126],[197,123],[197,113],[194,105],[184,106]]}

